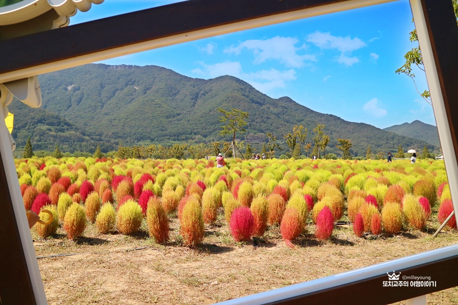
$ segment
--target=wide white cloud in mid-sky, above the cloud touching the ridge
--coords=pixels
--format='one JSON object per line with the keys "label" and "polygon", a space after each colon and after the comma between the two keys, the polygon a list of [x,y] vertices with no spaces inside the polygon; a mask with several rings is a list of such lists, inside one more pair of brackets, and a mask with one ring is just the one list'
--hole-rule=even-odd
{"label": "wide white cloud in mid-sky, above the cloud touching the ridge", "polygon": [[296,38],[276,36],[266,40],[247,40],[238,46],[226,48],[224,52],[238,55],[246,48],[253,52],[255,64],[262,64],[267,60],[273,59],[291,68],[303,67],[305,61],[318,61],[315,55],[298,54],[298,51],[306,48],[306,46],[296,47],[297,43],[299,41]]}

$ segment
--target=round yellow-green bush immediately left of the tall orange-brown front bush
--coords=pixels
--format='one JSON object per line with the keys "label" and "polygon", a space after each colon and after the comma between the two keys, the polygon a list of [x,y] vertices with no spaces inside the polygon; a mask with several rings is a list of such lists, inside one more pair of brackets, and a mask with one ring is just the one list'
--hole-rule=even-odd
{"label": "round yellow-green bush immediately left of the tall orange-brown front bush", "polygon": [[134,200],[129,199],[118,210],[116,226],[121,233],[131,234],[138,231],[142,220],[143,213],[140,205]]}

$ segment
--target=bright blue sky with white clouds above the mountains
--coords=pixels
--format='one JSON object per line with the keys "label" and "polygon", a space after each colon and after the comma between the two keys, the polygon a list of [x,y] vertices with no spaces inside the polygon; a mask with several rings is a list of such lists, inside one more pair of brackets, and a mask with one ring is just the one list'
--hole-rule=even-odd
{"label": "bright blue sky with white clouds above the mountains", "polygon": [[[70,25],[177,1],[105,0]],[[379,128],[421,120],[436,125],[432,106],[412,80],[394,71],[415,44],[409,2],[281,23],[104,60],[157,65],[195,78],[233,75],[273,98]],[[183,56],[186,54],[186,56]],[[419,90],[427,89],[422,71]]]}

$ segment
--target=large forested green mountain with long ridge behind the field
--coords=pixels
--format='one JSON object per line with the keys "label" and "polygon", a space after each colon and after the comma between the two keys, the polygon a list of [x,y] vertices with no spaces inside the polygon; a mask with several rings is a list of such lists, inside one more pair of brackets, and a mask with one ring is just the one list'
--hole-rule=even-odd
{"label": "large forested green mountain with long ridge behind the field", "polygon": [[[353,156],[365,156],[367,145],[377,153],[394,151],[399,144],[405,148],[426,144],[368,124],[351,123],[335,115],[313,111],[288,97],[270,98],[232,76],[204,80],[157,66],[90,64],[39,78],[42,109],[24,110],[25,106],[17,106],[20,102],[10,105],[15,118],[26,117],[27,124],[15,127],[18,145],[25,144],[26,136],[30,135],[34,149],[41,141],[60,145],[59,141],[66,141],[69,151],[80,149],[71,149],[72,146],[89,145],[77,144],[79,135],[86,137],[81,140],[88,143],[102,141],[103,151],[116,149],[118,142],[133,145],[136,141],[171,144],[221,140],[218,135],[221,113],[217,108],[247,111],[247,132],[238,137],[259,148],[266,141],[266,132],[272,132],[281,140],[284,134],[292,132],[294,125],[307,128],[306,142],[313,143],[312,129],[317,124],[324,124],[324,132],[330,137],[326,153],[341,154],[335,148],[338,138],[352,140]],[[49,116],[56,122],[44,122],[49,128],[43,128],[35,115]],[[23,126],[27,128],[22,130]],[[58,130],[58,126],[61,129]],[[72,139],[58,137],[69,131],[76,133]],[[428,145],[430,151],[435,148]]]}

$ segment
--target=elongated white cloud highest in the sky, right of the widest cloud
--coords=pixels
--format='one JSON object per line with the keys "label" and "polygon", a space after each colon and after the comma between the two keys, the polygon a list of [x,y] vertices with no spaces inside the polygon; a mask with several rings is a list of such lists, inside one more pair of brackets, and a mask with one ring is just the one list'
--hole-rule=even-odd
{"label": "elongated white cloud highest in the sky, right of the widest cloud", "polygon": [[336,49],[342,53],[353,52],[367,46],[358,37],[350,38],[341,36],[332,36],[329,32],[322,33],[317,31],[307,36],[307,41],[322,49]]}

